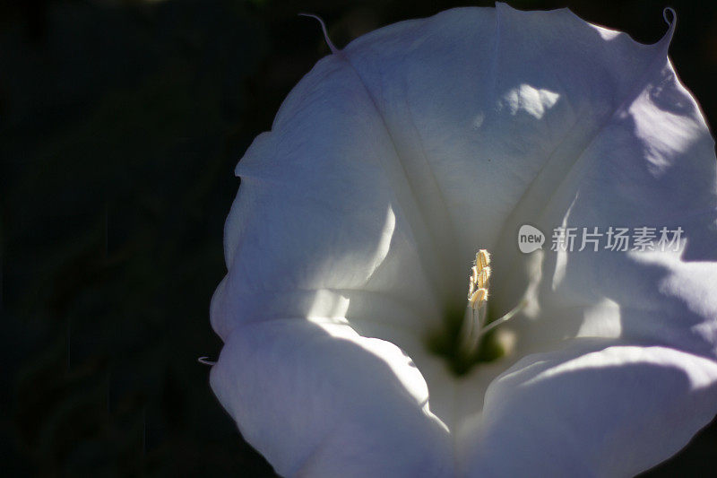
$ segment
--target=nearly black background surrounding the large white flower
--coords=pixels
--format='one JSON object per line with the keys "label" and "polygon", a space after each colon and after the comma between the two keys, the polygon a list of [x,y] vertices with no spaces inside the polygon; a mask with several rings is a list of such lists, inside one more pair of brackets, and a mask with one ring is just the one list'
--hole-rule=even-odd
{"label": "nearly black background surrounding the large white flower", "polygon": [[[661,38],[717,121],[714,2],[511,1]],[[232,169],[289,89],[385,24],[465,2],[0,4],[0,465],[39,476],[272,470],[213,397]],[[477,2],[474,4],[492,4]],[[289,400],[290,397],[287,397]],[[717,469],[717,425],[650,476]]]}

